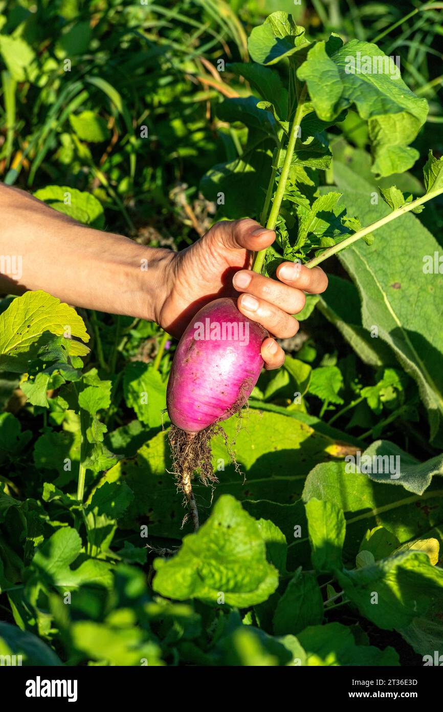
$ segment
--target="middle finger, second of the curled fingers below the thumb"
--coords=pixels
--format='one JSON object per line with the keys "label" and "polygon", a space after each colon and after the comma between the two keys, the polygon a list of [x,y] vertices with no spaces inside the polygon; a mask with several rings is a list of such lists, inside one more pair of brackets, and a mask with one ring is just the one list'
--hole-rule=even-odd
{"label": "middle finger, second of the curled fingers below the thumb", "polygon": [[236,272],[233,285],[238,292],[247,292],[276,304],[288,314],[299,313],[306,303],[306,296],[300,289],[294,289],[250,270],[242,269]]}

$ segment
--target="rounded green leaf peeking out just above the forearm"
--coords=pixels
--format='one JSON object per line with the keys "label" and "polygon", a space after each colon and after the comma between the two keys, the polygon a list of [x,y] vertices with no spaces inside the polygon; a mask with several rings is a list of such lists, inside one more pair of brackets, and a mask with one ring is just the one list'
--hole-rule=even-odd
{"label": "rounded green leaf peeking out just above the forearm", "polygon": [[60,213],[90,225],[97,230],[105,227],[105,211],[100,201],[90,193],[63,185],[48,185],[33,194],[38,200]]}

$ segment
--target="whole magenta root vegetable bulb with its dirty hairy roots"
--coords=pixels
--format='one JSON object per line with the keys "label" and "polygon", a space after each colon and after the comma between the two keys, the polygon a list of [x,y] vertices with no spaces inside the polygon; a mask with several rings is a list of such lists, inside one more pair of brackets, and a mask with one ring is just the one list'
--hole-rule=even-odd
{"label": "whole magenta root vegetable bulb with its dirty hairy roots", "polygon": [[245,405],[257,383],[267,331],[238,309],[233,298],[204,306],[183,333],[169,375],[166,404],[174,473],[186,495],[194,528],[198,512],[191,488],[193,472],[215,481],[210,437],[218,423]]}

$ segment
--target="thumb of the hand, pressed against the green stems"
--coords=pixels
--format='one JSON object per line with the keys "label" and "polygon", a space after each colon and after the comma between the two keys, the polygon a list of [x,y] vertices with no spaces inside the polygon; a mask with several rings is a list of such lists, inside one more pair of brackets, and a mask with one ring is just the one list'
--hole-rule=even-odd
{"label": "thumb of the hand, pressed against the green stems", "polygon": [[275,233],[256,220],[221,220],[208,232],[208,237],[218,241],[228,250],[260,251],[274,242]]}

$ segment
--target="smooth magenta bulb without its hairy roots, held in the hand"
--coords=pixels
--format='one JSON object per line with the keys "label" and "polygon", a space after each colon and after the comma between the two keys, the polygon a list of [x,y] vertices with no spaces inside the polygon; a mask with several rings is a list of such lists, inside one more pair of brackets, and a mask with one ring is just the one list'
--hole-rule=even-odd
{"label": "smooth magenta bulb without its hairy roots, held in the hand", "polygon": [[171,422],[197,433],[240,410],[262,370],[260,349],[267,336],[233,298],[204,306],[183,333],[171,367],[166,394]]}

